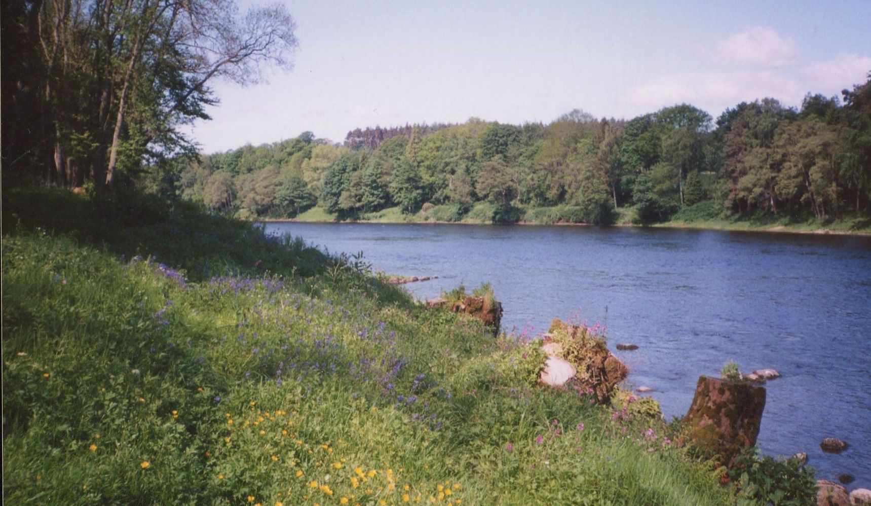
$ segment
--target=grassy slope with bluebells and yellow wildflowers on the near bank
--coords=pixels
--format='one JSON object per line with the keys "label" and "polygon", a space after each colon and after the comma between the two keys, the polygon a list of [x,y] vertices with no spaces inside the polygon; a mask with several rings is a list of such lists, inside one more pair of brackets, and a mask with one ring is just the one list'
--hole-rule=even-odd
{"label": "grassy slope with bluebells and yellow wildflowers on the near bank", "polygon": [[649,422],[531,386],[533,347],[301,241],[126,202],[3,196],[13,503],[733,502]]}

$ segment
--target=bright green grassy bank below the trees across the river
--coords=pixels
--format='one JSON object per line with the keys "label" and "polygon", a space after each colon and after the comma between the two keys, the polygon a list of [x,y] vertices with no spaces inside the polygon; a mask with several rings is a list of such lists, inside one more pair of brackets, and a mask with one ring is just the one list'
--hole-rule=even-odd
{"label": "bright green grassy bank below the trees across the river", "polygon": [[[426,212],[402,213],[398,207],[389,207],[378,213],[364,213],[357,219],[362,223],[460,223],[469,225],[490,225],[493,221],[494,206],[479,204],[468,214],[459,215],[451,206],[436,206]],[[519,225],[587,225],[573,219],[577,210],[570,206],[533,207],[519,209]],[[339,221],[337,215],[327,213],[321,207],[313,207],[295,219],[263,219],[263,221],[300,221],[326,223]],[[784,216],[760,214],[746,217],[726,215],[719,208],[704,202],[687,207],[660,223],[642,225],[638,213],[631,207],[620,207],[613,219],[614,226],[654,226],[658,228],[699,228],[706,230],[726,230],[739,232],[781,232],[781,233],[836,233],[871,234],[871,219],[847,216],[841,219],[819,220],[813,218],[791,219]]]}

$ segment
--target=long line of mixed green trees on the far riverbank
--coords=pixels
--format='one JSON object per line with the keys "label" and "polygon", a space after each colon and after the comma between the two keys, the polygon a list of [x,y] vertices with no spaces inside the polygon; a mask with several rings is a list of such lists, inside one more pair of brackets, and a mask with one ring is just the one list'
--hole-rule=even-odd
{"label": "long line of mixed green trees on the far riverbank", "polygon": [[[871,75],[869,75],[871,77]],[[871,214],[871,80],[843,99],[808,94],[800,110],[773,98],[716,121],[692,105],[623,119],[571,111],[549,125],[406,125],[311,132],[271,145],[179,161],[155,173],[162,192],[240,217],[294,217],[321,206],[341,219],[388,207],[463,219],[524,213],[609,223],[618,208],[669,219],[706,202],[717,213],[839,219]],[[556,211],[555,211],[556,210]]]}

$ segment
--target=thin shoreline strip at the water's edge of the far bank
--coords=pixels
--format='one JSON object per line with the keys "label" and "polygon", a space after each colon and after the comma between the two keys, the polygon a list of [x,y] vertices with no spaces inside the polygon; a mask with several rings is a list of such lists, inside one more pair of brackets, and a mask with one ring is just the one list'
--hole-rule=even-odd
{"label": "thin shoreline strip at the water's edge of the far bank", "polygon": [[[485,223],[474,221],[395,221],[395,220],[371,220],[371,219],[296,219],[296,218],[266,218],[266,219],[251,219],[255,223],[323,223],[332,225],[354,225],[354,224],[381,224],[381,225],[465,225],[465,226],[599,226],[591,223],[537,223],[535,221],[517,221],[515,223]],[[815,229],[794,229],[789,226],[775,225],[758,228],[746,228],[741,226],[705,226],[693,225],[690,223],[658,223],[653,225],[636,225],[632,223],[615,223],[612,225],[604,225],[601,227],[625,227],[625,228],[673,228],[673,229],[690,229],[690,230],[713,230],[719,232],[748,232],[748,233],[800,233],[805,235],[844,235],[856,237],[871,237],[869,231],[851,231],[851,230],[832,230],[828,228]]]}

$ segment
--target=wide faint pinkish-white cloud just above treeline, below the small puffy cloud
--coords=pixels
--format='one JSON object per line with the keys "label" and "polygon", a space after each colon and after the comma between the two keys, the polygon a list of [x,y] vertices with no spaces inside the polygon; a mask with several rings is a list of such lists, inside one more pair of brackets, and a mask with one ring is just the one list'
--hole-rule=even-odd
{"label": "wide faint pinkish-white cloud just above treeline, below the small puffy cloud", "polygon": [[717,115],[726,107],[757,98],[777,98],[784,105],[800,105],[806,90],[793,78],[773,71],[696,72],[671,74],[632,86],[625,94],[638,111],[688,103]]}

